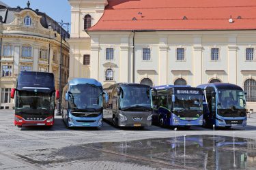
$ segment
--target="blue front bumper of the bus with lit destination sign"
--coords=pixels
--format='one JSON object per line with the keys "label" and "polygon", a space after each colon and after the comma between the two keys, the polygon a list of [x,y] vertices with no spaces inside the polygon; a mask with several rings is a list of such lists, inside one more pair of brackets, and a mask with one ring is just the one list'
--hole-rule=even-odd
{"label": "blue front bumper of the bus with lit destination sign", "polygon": [[175,114],[170,118],[170,126],[201,126],[203,125],[203,115],[199,118],[179,118]]}

